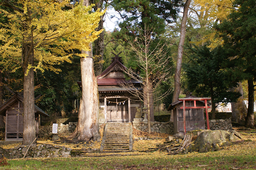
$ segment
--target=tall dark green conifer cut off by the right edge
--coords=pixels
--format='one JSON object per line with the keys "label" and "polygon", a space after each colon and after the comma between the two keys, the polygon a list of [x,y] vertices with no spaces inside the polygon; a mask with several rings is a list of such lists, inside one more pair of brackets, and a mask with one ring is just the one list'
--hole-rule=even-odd
{"label": "tall dark green conifer cut off by the right edge", "polygon": [[245,126],[254,128],[254,91],[256,77],[256,1],[236,0],[234,10],[217,26],[224,40],[224,48],[229,54],[227,67],[234,78],[248,82],[248,110]]}

